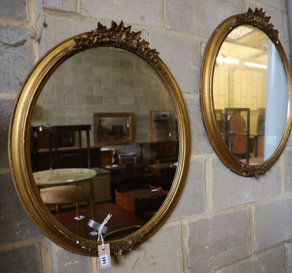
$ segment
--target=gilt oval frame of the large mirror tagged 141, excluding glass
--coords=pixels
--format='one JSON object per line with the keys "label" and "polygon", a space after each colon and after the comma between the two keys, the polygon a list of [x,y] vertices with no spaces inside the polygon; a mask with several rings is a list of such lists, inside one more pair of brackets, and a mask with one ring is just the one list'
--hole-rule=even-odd
{"label": "gilt oval frame of the large mirror tagged 141, excluding glass", "polygon": [[[34,183],[30,161],[29,136],[33,112],[45,84],[61,64],[75,54],[96,47],[113,47],[128,50],[140,56],[159,74],[165,83],[175,107],[179,150],[178,165],[171,189],[157,213],[139,230],[121,239],[108,241],[110,252],[117,258],[124,251],[150,237],[166,220],[178,200],[183,187],[189,157],[189,127],[184,102],[170,71],[149,43],[140,41],[141,31],[131,32],[121,21],[107,29],[98,22],[98,28],[72,36],[48,50],[34,65],[18,92],[9,127],[9,162],[13,182],[22,205],[36,226],[54,243],[81,255],[98,256],[101,242],[84,239],[63,227],[49,212]],[[106,214],[106,212],[105,212]],[[106,215],[105,215],[106,216]],[[107,241],[105,241],[107,242]]]}

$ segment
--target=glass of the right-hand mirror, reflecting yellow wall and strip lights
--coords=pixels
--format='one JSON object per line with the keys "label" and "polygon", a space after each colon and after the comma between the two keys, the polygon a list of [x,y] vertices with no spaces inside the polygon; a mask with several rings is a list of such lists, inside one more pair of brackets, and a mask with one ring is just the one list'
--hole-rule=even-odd
{"label": "glass of the right-hand mirror, reflecting yellow wall and strip lights", "polygon": [[281,57],[259,28],[241,25],[223,42],[213,101],[221,135],[234,156],[246,164],[272,156],[286,125],[288,88]]}

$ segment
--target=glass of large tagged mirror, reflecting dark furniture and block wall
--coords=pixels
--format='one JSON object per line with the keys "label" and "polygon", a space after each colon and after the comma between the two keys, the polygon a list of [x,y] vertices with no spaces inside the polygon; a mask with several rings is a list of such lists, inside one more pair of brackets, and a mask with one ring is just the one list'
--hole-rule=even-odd
{"label": "glass of large tagged mirror, reflecting dark furniture and block wall", "polygon": [[[157,212],[178,161],[175,107],[152,66],[126,50],[91,48],[64,62],[37,101],[30,156],[40,195],[69,231],[97,240],[133,233]],[[91,234],[89,234],[91,233]]]}

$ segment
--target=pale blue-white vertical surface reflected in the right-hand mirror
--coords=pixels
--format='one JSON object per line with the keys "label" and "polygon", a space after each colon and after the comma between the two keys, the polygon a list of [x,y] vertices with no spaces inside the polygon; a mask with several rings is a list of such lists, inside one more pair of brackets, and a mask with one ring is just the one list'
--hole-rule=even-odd
{"label": "pale blue-white vertical surface reflected in the right-hand mirror", "polygon": [[283,136],[288,111],[288,91],[281,57],[270,39],[267,43],[267,99],[265,115],[265,152],[267,160]]}

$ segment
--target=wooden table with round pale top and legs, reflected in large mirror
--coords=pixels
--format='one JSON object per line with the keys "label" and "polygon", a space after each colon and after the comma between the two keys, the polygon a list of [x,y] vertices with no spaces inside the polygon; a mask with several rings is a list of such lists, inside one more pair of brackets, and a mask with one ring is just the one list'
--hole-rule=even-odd
{"label": "wooden table with round pale top and legs, reflected in large mirror", "polygon": [[[90,200],[92,219],[96,219],[94,185],[92,178],[97,172],[91,169],[69,168],[34,172],[34,181],[41,198],[47,206],[55,205],[57,213],[61,205],[76,203],[77,217],[80,219],[79,202]],[[89,191],[79,182],[88,181]],[[72,184],[74,185],[68,185]],[[44,188],[45,187],[45,188]]]}

